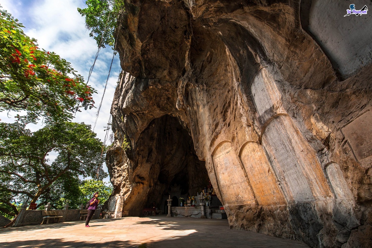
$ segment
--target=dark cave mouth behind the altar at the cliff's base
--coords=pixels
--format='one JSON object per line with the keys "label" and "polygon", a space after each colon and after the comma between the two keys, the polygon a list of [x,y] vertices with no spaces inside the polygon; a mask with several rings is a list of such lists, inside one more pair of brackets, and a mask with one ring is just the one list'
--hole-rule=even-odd
{"label": "dark cave mouth behind the altar at the cliff's base", "polygon": [[199,160],[192,137],[176,117],[164,115],[154,119],[142,135],[150,141],[146,162],[151,163],[149,175],[153,181],[144,207],[155,204],[165,211],[169,196],[177,199],[172,206],[180,206],[180,197],[186,201],[188,196],[197,196],[208,187],[205,161]]}

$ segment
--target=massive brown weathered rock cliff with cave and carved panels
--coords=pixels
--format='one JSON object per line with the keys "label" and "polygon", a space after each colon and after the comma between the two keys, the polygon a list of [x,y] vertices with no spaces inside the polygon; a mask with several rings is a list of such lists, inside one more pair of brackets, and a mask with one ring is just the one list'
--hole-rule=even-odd
{"label": "massive brown weathered rock cliff with cave and carved panels", "polygon": [[209,177],[231,228],[371,247],[372,19],[321,4],[126,0],[108,210]]}

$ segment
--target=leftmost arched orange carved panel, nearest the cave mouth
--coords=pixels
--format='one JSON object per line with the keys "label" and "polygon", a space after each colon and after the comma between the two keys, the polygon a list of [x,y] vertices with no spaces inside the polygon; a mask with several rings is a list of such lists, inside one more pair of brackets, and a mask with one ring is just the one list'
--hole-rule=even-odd
{"label": "leftmost arched orange carved panel, nearest the cave mouth", "polygon": [[212,159],[225,205],[254,203],[254,196],[231,143],[224,141],[217,146]]}

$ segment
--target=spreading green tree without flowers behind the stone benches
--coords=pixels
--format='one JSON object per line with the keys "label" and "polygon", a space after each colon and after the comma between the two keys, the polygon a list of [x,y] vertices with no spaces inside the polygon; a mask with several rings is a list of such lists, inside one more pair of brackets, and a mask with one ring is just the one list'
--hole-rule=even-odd
{"label": "spreading green tree without flowers behind the stone benches", "polygon": [[[50,162],[53,153],[57,157]],[[103,143],[90,125],[51,123],[32,133],[20,123],[0,123],[0,201],[12,207],[11,199],[48,199],[54,186],[69,187],[78,175],[102,180],[107,176],[103,158]]]}

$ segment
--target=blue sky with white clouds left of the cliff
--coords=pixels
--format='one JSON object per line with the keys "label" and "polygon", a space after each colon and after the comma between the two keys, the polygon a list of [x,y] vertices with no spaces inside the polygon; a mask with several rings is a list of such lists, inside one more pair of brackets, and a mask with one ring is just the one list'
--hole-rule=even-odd
{"label": "blue sky with white clouds left of the cliff", "polygon": [[[53,51],[71,63],[72,67],[83,75],[87,81],[89,69],[93,65],[97,52],[96,41],[89,37],[85,28],[84,17],[77,8],[85,8],[85,0],[0,0],[0,6],[23,23],[26,35],[38,40],[39,48]],[[108,76],[113,51],[111,48],[101,49],[99,57],[89,79],[89,85],[97,90],[93,96],[96,106],[99,106],[106,79]],[[105,128],[110,117],[110,107],[120,70],[119,56],[116,55],[109,81],[103,99],[99,118],[94,132],[103,141]],[[97,109],[82,110],[74,118],[74,122],[84,122],[94,125]],[[2,122],[14,122],[16,113],[0,112]],[[8,117],[9,116],[9,117]],[[27,128],[36,131],[42,128],[42,123],[29,124]],[[106,143],[109,145],[109,141]],[[54,160],[55,154],[49,158]],[[105,171],[107,171],[104,165]],[[109,181],[106,178],[104,181]]]}

